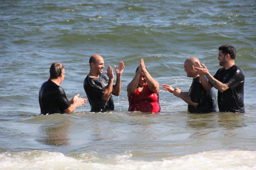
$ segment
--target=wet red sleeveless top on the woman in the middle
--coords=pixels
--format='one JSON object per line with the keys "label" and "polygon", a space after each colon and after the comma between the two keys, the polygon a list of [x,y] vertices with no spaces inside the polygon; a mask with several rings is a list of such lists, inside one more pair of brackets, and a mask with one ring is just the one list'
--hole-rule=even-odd
{"label": "wet red sleeveless top on the woman in the middle", "polygon": [[136,88],[135,92],[129,97],[128,111],[140,112],[160,112],[159,95],[153,93],[146,84],[144,91]]}

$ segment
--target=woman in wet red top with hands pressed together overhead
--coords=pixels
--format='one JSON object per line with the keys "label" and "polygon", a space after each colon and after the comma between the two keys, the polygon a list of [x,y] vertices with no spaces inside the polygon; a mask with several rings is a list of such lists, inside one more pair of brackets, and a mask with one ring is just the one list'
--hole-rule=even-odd
{"label": "woman in wet red top with hands pressed together overhead", "polygon": [[136,74],[127,85],[128,111],[160,112],[159,83],[151,77],[141,59]]}

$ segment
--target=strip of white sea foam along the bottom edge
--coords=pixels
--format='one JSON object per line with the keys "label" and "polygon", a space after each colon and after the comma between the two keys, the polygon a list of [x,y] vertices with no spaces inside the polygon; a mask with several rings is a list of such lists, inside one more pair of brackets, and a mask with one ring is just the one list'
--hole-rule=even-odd
{"label": "strip of white sea foam along the bottom edge", "polygon": [[130,153],[111,155],[111,159],[91,159],[95,154],[77,156],[48,151],[4,152],[0,154],[0,169],[256,169],[256,151],[243,150],[216,150],[152,162],[133,160]]}

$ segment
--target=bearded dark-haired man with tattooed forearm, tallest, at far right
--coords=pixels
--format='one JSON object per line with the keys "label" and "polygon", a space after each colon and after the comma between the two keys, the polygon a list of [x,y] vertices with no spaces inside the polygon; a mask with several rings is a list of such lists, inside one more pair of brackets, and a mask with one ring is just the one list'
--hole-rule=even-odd
{"label": "bearded dark-haired man with tattooed forearm, tallest, at far right", "polygon": [[[244,73],[235,64],[236,49],[231,45],[219,47],[219,65],[222,66],[212,76],[206,66],[196,62],[193,71],[200,75],[200,81],[204,89],[212,87],[218,89],[218,107],[220,112],[244,112]],[[205,78],[207,77],[207,79]]]}

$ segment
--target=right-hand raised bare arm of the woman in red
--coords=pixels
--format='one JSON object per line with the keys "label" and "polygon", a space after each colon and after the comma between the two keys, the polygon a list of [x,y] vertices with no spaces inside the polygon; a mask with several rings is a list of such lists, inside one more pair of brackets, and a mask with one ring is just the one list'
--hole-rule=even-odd
{"label": "right-hand raised bare arm of the woman in red", "polygon": [[157,81],[155,81],[153,79],[153,77],[149,74],[149,72],[147,71],[146,66],[144,64],[143,59],[141,59],[140,66],[141,66],[141,71],[143,72],[143,74],[147,80],[147,85],[148,85],[149,89],[151,91],[153,91],[154,93],[159,93],[159,83]]}

